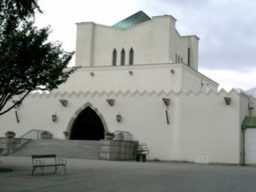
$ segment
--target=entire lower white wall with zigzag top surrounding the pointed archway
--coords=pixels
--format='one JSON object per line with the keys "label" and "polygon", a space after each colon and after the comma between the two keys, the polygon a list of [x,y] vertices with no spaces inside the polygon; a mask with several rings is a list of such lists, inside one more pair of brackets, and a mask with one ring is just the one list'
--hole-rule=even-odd
{"label": "entire lower white wall with zigzag top surrounding the pointed archway", "polygon": [[[232,102],[226,105],[224,96]],[[170,124],[166,123],[166,106],[162,98],[170,98]],[[68,100],[67,108],[59,99]],[[106,102],[115,99],[113,107]],[[210,163],[240,163],[240,96],[226,93],[174,93],[155,91],[80,92],[28,96],[15,111],[0,116],[0,136],[15,131],[20,137],[32,129],[48,130],[55,138],[64,138],[70,122],[86,103],[90,103],[109,131],[129,131],[133,139],[147,143],[149,159],[186,160]],[[58,120],[53,122],[51,115]],[[116,114],[123,120],[118,123]]]}

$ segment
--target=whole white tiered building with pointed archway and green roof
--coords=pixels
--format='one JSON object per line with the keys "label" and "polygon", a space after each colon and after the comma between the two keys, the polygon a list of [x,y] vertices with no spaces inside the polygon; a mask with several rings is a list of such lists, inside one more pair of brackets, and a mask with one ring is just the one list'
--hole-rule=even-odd
{"label": "whole white tiered building with pointed archway and green roof", "polygon": [[113,26],[78,23],[79,70],[58,90],[31,94],[0,116],[0,136],[36,129],[57,139],[99,140],[104,131],[128,131],[148,144],[151,160],[256,163],[256,132],[248,129],[254,124],[243,124],[245,145],[241,131],[245,116],[256,115],[255,100],[218,91],[199,73],[199,38],[181,36],[175,23],[171,15],[150,18],[142,11]]}

